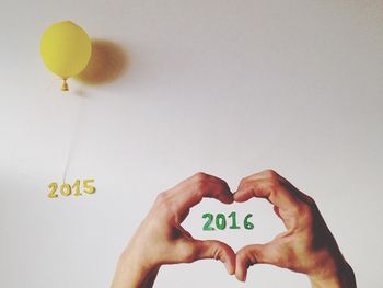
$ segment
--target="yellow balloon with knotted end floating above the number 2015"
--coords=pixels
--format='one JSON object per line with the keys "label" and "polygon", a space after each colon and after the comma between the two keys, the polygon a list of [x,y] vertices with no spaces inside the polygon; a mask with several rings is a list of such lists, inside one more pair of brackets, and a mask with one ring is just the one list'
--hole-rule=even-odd
{"label": "yellow balloon with knotted end floating above the number 2015", "polygon": [[70,21],[55,23],[43,34],[40,54],[46,67],[66,80],[85,69],[92,54],[92,43],[86,32]]}

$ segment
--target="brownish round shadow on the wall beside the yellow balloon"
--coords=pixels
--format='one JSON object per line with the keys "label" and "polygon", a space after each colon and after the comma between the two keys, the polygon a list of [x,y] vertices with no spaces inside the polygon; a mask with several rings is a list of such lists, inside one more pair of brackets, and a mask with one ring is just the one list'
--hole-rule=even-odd
{"label": "brownish round shadow on the wall beside the yellow balloon", "polygon": [[76,78],[86,84],[104,84],[117,80],[128,70],[128,56],[116,43],[92,39],[92,56],[85,70]]}

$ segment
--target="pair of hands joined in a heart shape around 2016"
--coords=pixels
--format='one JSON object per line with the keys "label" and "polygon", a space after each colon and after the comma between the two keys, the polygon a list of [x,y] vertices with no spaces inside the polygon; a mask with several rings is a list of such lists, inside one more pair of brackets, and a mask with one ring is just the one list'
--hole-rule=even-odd
{"label": "pair of hands joined in a heart shape around 2016", "polygon": [[[204,197],[223,204],[266,198],[287,231],[269,243],[247,245],[236,254],[223,242],[196,240],[181,224]],[[266,263],[306,274],[312,287],[356,287],[353,272],[314,200],[271,170],[243,178],[234,194],[223,180],[205,173],[159,194],[124,251],[112,287],[149,288],[161,265],[204,258],[220,260],[241,281],[251,265]]]}

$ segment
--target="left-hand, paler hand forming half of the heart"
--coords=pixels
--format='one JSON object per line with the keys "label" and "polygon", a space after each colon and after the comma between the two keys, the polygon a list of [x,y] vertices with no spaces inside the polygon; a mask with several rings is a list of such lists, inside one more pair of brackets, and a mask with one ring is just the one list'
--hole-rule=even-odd
{"label": "left-hand, paler hand forming half of the heart", "polygon": [[181,226],[189,209],[204,197],[233,203],[228,184],[204,173],[161,193],[124,251],[112,287],[151,287],[161,265],[204,258],[220,260],[229,274],[234,274],[235,253],[229,245],[196,240]]}

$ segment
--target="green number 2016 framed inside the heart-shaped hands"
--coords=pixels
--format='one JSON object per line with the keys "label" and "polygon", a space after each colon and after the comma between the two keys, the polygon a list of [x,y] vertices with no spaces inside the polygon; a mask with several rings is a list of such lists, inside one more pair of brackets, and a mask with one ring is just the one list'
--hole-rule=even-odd
{"label": "green number 2016 framed inside the heart-shaped hands", "polygon": [[[243,227],[246,229],[246,230],[252,230],[254,229],[254,224],[249,221],[249,218],[252,218],[253,215],[252,214],[248,214],[245,219],[243,220]],[[206,223],[204,224],[204,230],[205,231],[212,231],[212,230],[216,230],[213,227],[212,227],[212,222],[213,222],[213,219],[214,219],[214,216],[212,214],[204,214],[202,215],[202,218],[204,219],[207,219]],[[229,226],[229,229],[241,229],[240,226],[237,226],[236,223],[236,212],[231,212],[228,218],[230,218],[231,220],[231,226]],[[223,215],[223,214],[218,214],[216,216],[216,227],[217,229],[219,230],[224,230],[227,228],[227,217]]]}

